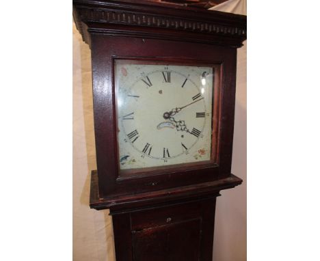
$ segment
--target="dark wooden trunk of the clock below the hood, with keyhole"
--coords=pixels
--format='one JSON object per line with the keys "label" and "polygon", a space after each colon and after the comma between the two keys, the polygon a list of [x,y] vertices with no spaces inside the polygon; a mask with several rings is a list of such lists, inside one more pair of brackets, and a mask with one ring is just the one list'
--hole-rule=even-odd
{"label": "dark wooden trunk of the clock below the hood, with keyhole", "polygon": [[215,197],[110,215],[117,261],[212,260]]}

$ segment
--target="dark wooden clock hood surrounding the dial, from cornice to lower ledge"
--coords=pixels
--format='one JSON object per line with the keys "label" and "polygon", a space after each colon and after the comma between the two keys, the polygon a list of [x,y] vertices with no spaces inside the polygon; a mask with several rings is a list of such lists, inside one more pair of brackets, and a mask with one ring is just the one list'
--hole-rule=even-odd
{"label": "dark wooden clock hood surrounding the dial, from cornice to lower ledge", "polygon": [[[97,171],[92,171],[90,206],[133,207],[213,191],[217,195],[241,184],[230,171],[237,48],[246,38],[246,16],[149,1],[90,0],[73,0],[73,16],[92,51]],[[120,175],[115,59],[219,65],[217,163]]]}

